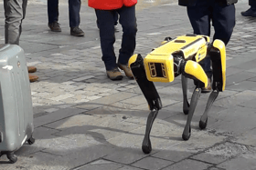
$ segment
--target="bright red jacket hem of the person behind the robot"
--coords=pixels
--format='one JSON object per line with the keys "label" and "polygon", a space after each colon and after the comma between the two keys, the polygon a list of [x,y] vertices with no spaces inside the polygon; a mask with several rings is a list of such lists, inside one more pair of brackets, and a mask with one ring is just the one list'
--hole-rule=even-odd
{"label": "bright red jacket hem of the person behind the robot", "polygon": [[136,4],[137,0],[88,0],[90,7],[101,10],[119,9],[123,5],[129,7]]}

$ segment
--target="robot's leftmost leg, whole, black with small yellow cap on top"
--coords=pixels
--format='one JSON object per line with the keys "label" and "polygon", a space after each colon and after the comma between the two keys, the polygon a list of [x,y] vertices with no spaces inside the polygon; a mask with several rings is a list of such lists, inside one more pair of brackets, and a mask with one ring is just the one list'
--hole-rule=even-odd
{"label": "robot's leftmost leg, whole, black with small yellow cap on top", "polygon": [[129,66],[131,67],[133,76],[137,84],[140,86],[149,105],[149,109],[151,110],[151,113],[147,117],[144,141],[142,145],[144,154],[149,154],[152,150],[150,132],[155,121],[155,117],[158,114],[158,111],[162,108],[162,103],[160,96],[155,89],[154,83],[148,81],[145,75],[143,57],[141,55],[133,55],[129,60]]}

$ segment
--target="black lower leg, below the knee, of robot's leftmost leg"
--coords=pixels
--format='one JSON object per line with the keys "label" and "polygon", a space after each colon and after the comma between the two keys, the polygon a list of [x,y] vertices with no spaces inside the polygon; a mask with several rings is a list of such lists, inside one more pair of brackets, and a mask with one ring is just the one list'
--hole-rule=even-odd
{"label": "black lower leg, below the knee, of robot's leftmost leg", "polygon": [[157,114],[158,114],[158,109],[154,108],[147,117],[144,141],[143,141],[143,145],[142,145],[144,154],[149,154],[152,151],[152,146],[151,146],[151,142],[150,142],[150,132],[151,132],[152,125],[155,121],[155,117]]}

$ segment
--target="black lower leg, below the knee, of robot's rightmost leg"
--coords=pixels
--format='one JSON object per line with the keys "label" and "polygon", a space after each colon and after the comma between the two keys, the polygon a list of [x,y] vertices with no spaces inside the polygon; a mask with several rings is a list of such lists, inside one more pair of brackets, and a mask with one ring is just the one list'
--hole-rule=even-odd
{"label": "black lower leg, below the knee, of robot's rightmost leg", "polygon": [[213,90],[211,92],[211,94],[208,97],[208,103],[205,109],[204,114],[201,116],[201,119],[199,121],[199,127],[201,129],[205,129],[208,125],[208,111],[211,107],[211,105],[213,104],[213,102],[215,101],[215,99],[217,98],[217,96],[219,95],[219,90]]}

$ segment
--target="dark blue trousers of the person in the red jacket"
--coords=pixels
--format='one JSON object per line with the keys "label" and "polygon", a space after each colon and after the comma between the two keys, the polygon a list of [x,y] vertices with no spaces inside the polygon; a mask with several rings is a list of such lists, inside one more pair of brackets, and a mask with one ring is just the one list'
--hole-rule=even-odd
{"label": "dark blue trousers of the person in the red jacket", "polygon": [[106,70],[112,70],[117,66],[113,48],[115,42],[114,15],[116,12],[119,14],[119,23],[123,27],[123,38],[121,49],[119,50],[118,62],[122,65],[126,65],[129,58],[133,55],[136,45],[137,24],[135,6],[123,6],[116,10],[96,9],[95,12],[99,22],[102,60],[106,66]]}

